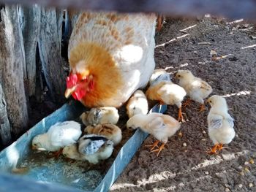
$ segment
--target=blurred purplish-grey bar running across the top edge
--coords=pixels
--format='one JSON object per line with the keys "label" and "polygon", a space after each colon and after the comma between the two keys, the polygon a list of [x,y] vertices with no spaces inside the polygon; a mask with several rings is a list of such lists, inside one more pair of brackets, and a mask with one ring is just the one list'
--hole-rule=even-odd
{"label": "blurred purplish-grey bar running across the top edge", "polygon": [[116,10],[119,12],[160,12],[166,15],[197,16],[210,13],[227,18],[256,19],[255,0],[0,0],[4,4],[41,4],[74,9]]}

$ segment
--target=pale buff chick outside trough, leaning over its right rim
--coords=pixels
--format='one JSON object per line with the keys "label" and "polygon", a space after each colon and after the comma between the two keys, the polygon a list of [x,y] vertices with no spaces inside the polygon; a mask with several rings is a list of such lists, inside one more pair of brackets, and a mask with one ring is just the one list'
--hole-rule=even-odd
{"label": "pale buff chick outside trough, leaning over its right rim", "polygon": [[[175,118],[157,112],[138,114],[127,121],[127,128],[140,128],[157,139],[153,145],[147,145],[151,147],[152,152],[157,152],[157,156],[165,148],[168,137],[173,136],[180,127],[181,124]],[[162,145],[158,148],[159,142],[162,142]],[[158,149],[155,149],[156,147]]]}

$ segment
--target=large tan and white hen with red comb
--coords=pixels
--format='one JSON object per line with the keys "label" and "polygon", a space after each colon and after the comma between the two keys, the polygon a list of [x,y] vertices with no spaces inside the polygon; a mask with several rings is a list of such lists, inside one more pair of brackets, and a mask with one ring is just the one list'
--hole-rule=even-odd
{"label": "large tan and white hen with red comb", "polygon": [[155,14],[83,12],[69,39],[65,96],[87,107],[120,107],[155,66]]}

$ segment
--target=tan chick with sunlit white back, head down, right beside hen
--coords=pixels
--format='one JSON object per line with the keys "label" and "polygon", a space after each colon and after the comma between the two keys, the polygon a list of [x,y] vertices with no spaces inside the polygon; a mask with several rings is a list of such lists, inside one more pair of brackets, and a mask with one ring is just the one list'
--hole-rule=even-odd
{"label": "tan chick with sunlit white back, head down, right beside hen", "polygon": [[178,121],[184,121],[181,104],[186,95],[184,88],[171,81],[157,82],[146,91],[148,99],[160,101],[160,104],[176,104],[178,107]]}

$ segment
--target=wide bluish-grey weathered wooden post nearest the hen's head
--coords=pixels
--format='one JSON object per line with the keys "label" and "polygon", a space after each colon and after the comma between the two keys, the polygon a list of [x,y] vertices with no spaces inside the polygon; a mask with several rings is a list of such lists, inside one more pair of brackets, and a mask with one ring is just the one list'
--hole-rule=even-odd
{"label": "wide bluish-grey weathered wooden post nearest the hen's head", "polygon": [[61,58],[62,10],[42,8],[39,55],[50,94],[55,101],[64,101],[66,80]]}

